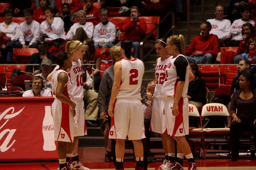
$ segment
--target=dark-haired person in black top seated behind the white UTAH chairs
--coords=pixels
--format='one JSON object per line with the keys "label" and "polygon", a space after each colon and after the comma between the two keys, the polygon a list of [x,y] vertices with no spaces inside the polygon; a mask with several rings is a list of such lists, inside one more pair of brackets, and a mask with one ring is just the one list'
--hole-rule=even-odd
{"label": "dark-haired person in black top seated behind the white UTAH chairs", "polygon": [[206,103],[205,81],[201,78],[201,72],[196,63],[190,63],[189,70],[192,71],[195,78],[188,84],[188,103],[202,108]]}

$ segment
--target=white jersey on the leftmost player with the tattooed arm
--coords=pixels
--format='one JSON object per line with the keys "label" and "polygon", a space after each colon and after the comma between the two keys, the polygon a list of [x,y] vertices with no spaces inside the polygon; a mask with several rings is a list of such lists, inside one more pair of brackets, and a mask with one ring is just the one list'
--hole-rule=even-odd
{"label": "white jersey on the leftmost player with the tattooed arm", "polygon": [[[57,89],[57,85],[58,85],[58,75],[64,72],[68,75],[68,73],[62,69],[57,69],[54,71],[53,75],[52,75],[52,96],[54,97],[54,100],[60,101],[56,98],[55,92]],[[73,95],[73,89],[72,89],[72,83],[70,81],[70,78],[68,77],[68,82],[65,84],[64,86],[64,91],[63,94],[65,96],[67,96],[68,99],[71,99],[74,101],[74,95]],[[61,102],[61,101],[60,101]]]}

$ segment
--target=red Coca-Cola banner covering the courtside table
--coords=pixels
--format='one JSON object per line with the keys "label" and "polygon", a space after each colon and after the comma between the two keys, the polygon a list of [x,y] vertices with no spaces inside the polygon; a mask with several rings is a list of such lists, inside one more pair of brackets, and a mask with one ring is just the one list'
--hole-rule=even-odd
{"label": "red Coca-Cola banner covering the courtside table", "polygon": [[0,161],[58,160],[53,97],[0,98]]}

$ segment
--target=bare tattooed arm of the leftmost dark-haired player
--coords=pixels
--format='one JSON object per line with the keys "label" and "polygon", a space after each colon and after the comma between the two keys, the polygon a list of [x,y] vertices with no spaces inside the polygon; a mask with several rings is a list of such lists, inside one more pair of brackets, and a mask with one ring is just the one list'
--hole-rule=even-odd
{"label": "bare tattooed arm of the leftmost dark-haired player", "polygon": [[60,100],[62,103],[69,105],[72,108],[73,113],[75,114],[76,103],[73,102],[72,100],[68,99],[63,94],[65,84],[68,82],[68,75],[64,72],[61,72],[58,75],[57,80],[58,80],[58,85],[57,85],[56,92],[55,92],[56,98],[58,100]]}

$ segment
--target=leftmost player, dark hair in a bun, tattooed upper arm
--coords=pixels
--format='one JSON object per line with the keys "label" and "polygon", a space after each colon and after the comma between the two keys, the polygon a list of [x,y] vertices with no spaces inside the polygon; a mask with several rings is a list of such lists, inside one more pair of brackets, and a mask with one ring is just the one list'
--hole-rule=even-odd
{"label": "leftmost player, dark hair in a bun, tattooed upper arm", "polygon": [[66,170],[66,154],[74,148],[74,116],[76,103],[73,99],[72,83],[67,70],[72,67],[71,56],[60,52],[58,56],[52,55],[53,61],[59,64],[52,75],[52,117],[54,122],[54,140],[58,141],[58,155],[60,170]]}

